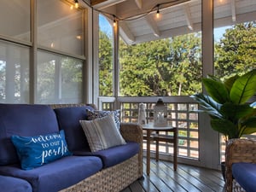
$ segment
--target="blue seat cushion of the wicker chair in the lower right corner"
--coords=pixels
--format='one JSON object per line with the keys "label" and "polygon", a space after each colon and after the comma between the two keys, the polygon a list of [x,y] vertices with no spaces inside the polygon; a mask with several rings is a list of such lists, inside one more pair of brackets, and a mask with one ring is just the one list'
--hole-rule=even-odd
{"label": "blue seat cushion of the wicker chair in the lower right corner", "polygon": [[256,164],[234,163],[232,165],[233,177],[247,192],[256,189]]}

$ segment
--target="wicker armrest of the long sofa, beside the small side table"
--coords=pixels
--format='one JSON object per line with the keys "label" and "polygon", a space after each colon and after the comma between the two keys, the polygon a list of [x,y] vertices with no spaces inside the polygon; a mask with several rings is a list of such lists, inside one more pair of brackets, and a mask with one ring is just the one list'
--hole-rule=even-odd
{"label": "wicker armrest of the long sofa, beside the small side table", "polygon": [[143,128],[134,123],[121,123],[120,132],[125,141],[136,142],[140,144],[138,154],[139,175],[143,177]]}

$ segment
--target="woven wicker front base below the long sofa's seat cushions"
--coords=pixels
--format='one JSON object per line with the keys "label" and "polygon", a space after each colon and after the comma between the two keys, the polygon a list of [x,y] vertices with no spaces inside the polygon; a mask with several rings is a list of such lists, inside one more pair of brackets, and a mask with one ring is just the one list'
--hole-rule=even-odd
{"label": "woven wicker front base below the long sofa's seat cushions", "polygon": [[61,192],[118,192],[139,177],[137,162],[138,154],[116,166],[97,172]]}

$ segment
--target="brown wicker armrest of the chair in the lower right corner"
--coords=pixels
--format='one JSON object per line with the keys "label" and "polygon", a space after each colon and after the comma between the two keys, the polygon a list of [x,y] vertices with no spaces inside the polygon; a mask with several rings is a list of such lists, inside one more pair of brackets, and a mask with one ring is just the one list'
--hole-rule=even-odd
{"label": "brown wicker armrest of the chair in the lower right corner", "polygon": [[256,163],[256,141],[251,139],[230,139],[225,151],[226,189],[232,191],[232,164],[238,162]]}

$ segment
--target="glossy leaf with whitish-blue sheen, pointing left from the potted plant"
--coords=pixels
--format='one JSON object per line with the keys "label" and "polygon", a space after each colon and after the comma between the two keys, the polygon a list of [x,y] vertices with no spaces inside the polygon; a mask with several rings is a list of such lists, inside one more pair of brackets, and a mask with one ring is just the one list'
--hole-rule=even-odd
{"label": "glossy leaf with whitish-blue sheen, pointing left from the potted plant", "polygon": [[196,102],[199,102],[199,104],[203,108],[203,110],[199,110],[198,112],[205,112],[211,116],[222,118],[221,113],[219,113],[221,105],[218,102],[215,102],[211,96],[197,93],[190,97],[193,98]]}

